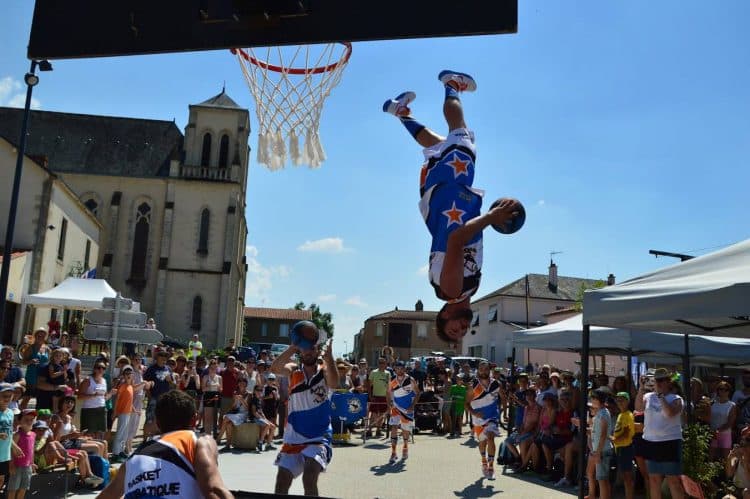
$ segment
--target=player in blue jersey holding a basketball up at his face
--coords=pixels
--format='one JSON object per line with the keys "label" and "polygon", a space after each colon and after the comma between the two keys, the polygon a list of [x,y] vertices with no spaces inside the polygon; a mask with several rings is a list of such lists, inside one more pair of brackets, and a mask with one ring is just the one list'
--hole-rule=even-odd
{"label": "player in blue jersey holding a basketball up at his face", "polygon": [[[292,344],[276,357],[271,372],[289,378],[288,416],[284,444],[274,464],[276,494],[287,494],[292,480],[302,475],[305,495],[318,495],[318,477],[331,462],[331,394],[339,384],[332,340],[318,366],[320,332],[310,321],[301,321],[290,331]],[[300,364],[291,362],[298,354]]]}

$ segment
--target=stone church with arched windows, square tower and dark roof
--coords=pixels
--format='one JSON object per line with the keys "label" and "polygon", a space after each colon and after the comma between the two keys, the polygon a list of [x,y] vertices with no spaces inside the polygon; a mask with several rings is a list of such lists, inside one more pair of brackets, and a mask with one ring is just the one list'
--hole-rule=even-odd
{"label": "stone church with arched windows, square tower and dark roof", "polygon": [[[15,144],[22,117],[0,107],[0,136]],[[173,121],[31,111],[26,154],[103,226],[96,277],[165,336],[215,348],[242,338],[249,133],[248,110],[222,90],[189,106],[184,134]],[[8,179],[13,168],[0,165]]]}

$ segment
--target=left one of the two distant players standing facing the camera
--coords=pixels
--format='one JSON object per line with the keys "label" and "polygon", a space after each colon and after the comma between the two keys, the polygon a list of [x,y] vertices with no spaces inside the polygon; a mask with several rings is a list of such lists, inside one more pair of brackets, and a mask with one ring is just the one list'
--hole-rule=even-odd
{"label": "left one of the two distant players standing facing the camera", "polygon": [[391,427],[391,459],[393,464],[398,460],[396,446],[398,445],[398,429],[401,428],[401,437],[404,446],[401,452],[401,460],[409,458],[409,435],[414,429],[414,406],[419,398],[419,387],[414,378],[406,374],[406,364],[398,360],[394,364],[396,377],[391,380],[386,392],[388,406],[391,408],[391,417],[388,421]]}

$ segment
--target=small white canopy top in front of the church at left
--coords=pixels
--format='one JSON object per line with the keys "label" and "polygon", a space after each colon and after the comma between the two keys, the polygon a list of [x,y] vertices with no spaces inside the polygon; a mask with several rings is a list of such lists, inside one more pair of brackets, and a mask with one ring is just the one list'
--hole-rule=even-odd
{"label": "small white canopy top in front of the church at left", "polygon": [[116,295],[104,279],[68,277],[50,290],[27,295],[24,303],[35,307],[92,310],[101,308],[102,298],[114,298]]}

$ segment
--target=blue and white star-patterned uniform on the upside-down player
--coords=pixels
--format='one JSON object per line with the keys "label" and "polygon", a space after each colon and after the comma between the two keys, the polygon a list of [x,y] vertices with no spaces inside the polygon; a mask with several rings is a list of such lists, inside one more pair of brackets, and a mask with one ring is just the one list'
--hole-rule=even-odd
{"label": "blue and white star-patterned uniform on the upside-down player", "polygon": [[424,149],[419,209],[430,234],[429,278],[435,294],[449,303],[463,301],[476,293],[482,276],[482,233],[464,247],[464,283],[459,296],[446,296],[440,289],[448,236],[479,216],[484,193],[474,189],[476,148],[474,133],[466,128],[451,131],[448,137]]}

